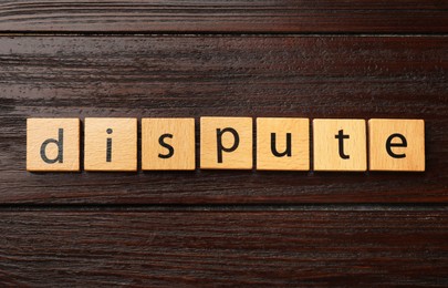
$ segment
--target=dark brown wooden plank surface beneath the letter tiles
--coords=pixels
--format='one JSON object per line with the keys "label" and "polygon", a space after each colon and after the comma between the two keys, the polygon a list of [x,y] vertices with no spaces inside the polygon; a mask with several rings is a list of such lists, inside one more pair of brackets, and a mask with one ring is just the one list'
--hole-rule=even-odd
{"label": "dark brown wooden plank surface beneath the letter tiles", "polygon": [[[206,115],[424,119],[427,171],[25,172],[27,117]],[[447,203],[448,1],[0,2],[1,286],[447,287]]]}

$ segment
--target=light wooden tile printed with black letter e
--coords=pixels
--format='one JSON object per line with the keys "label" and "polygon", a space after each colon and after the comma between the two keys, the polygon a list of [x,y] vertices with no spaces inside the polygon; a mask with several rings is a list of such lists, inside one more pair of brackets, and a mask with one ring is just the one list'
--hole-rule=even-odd
{"label": "light wooden tile printed with black letter e", "polygon": [[368,121],[371,171],[425,171],[423,120]]}

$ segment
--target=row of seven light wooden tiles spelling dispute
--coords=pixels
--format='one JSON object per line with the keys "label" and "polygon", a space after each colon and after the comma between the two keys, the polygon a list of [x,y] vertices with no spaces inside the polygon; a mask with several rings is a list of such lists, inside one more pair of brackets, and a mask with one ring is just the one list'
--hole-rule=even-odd
{"label": "row of seven light wooden tiles spelling dispute", "polygon": [[[80,171],[80,123],[28,119],[27,169]],[[252,169],[256,162],[260,171],[310,171],[312,142],[314,171],[425,171],[423,120],[315,119],[312,133],[301,117],[258,117],[256,125],[200,117],[200,168]],[[137,119],[86,117],[83,131],[85,171],[137,171]],[[142,119],[142,169],[196,169],[196,136],[195,119]]]}

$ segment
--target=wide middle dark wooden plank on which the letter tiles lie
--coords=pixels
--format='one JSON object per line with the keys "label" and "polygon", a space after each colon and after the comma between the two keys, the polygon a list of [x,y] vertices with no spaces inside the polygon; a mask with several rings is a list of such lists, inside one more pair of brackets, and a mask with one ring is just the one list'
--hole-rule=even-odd
{"label": "wide middle dark wooden plank on which the letter tiles lie", "polygon": [[[448,199],[447,37],[3,37],[0,42],[1,203]],[[205,115],[423,119],[426,172],[25,172],[28,117],[195,117],[199,135]]]}

